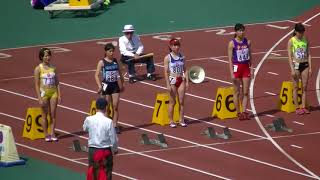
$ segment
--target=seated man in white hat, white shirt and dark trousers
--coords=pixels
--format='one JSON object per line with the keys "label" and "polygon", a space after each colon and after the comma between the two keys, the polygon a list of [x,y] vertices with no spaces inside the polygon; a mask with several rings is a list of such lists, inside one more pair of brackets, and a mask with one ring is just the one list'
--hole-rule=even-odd
{"label": "seated man in white hat, white shirt and dark trousers", "polygon": [[128,65],[129,83],[138,81],[134,67],[134,64],[137,62],[147,64],[147,79],[155,81],[156,77],[153,74],[155,71],[153,55],[146,56],[143,53],[143,44],[139,36],[134,34],[134,31],[133,25],[127,24],[122,30],[124,35],[119,38],[121,61]]}

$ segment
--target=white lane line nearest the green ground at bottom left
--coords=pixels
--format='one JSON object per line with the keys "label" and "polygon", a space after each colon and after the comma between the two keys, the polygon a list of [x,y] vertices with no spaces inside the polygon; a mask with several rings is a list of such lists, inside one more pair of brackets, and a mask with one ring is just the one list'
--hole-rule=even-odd
{"label": "white lane line nearest the green ground at bottom left", "polygon": [[[16,142],[16,145],[21,146],[21,147],[26,148],[26,149],[33,150],[33,151],[37,151],[37,152],[40,152],[40,153],[43,153],[43,154],[47,154],[47,155],[50,155],[50,156],[53,156],[53,157],[56,157],[56,158],[60,158],[60,159],[66,160],[66,161],[70,161],[70,162],[73,162],[73,163],[76,163],[76,164],[80,164],[80,165],[83,165],[83,166],[88,166],[87,163],[79,162],[77,160],[70,159],[70,158],[67,158],[65,156],[61,156],[61,155],[58,155],[58,154],[55,154],[55,153],[51,153],[51,152],[48,152],[48,151],[45,151],[45,150],[38,149],[38,148],[30,146],[30,144],[26,145],[26,144],[21,144],[21,143],[17,143]],[[127,176],[127,175],[123,175],[123,174],[120,174],[120,173],[117,173],[117,172],[112,172],[112,174],[120,176],[120,177],[123,177],[123,178],[126,178],[126,179],[131,179],[131,180],[136,180],[137,179],[137,178],[130,177],[130,176]]]}

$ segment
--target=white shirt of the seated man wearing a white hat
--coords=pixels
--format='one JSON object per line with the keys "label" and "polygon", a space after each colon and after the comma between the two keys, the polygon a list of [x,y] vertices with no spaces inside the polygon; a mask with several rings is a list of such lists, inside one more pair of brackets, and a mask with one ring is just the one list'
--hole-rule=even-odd
{"label": "white shirt of the seated man wearing a white hat", "polygon": [[119,38],[120,53],[124,56],[134,56],[134,54],[140,55],[143,53],[143,45],[139,36],[133,34],[131,40],[126,36]]}

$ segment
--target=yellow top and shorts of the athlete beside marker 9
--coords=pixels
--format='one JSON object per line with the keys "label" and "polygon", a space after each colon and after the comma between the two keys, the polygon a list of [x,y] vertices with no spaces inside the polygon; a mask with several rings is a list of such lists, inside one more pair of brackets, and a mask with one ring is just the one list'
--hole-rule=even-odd
{"label": "yellow top and shorts of the athlete beside marker 9", "polygon": [[54,66],[44,68],[43,64],[39,65],[40,96],[42,99],[51,99],[58,97],[55,72],[56,68]]}

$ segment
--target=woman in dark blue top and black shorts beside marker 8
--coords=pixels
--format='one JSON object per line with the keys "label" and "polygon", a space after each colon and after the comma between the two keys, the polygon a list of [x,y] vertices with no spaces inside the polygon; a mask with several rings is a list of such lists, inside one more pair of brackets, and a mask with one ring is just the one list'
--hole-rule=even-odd
{"label": "woman in dark blue top and black shorts beside marker 8", "polygon": [[113,57],[115,50],[113,44],[106,44],[104,50],[105,57],[98,62],[97,70],[95,73],[95,80],[98,85],[98,93],[101,94],[102,97],[106,98],[106,100],[109,102],[109,106],[112,105],[113,125],[117,134],[119,134],[120,129],[118,127],[118,104],[120,99],[120,92],[124,90],[124,78],[122,76],[121,68],[117,62],[117,59]]}

